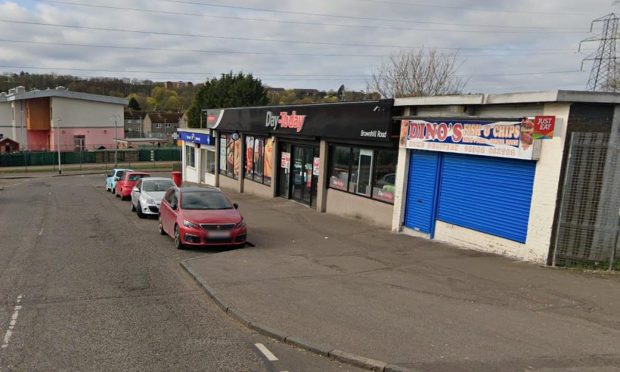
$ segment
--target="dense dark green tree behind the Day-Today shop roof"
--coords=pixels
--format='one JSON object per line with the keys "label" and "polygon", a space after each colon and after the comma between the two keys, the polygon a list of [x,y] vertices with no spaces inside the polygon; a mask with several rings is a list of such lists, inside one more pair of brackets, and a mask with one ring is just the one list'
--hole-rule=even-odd
{"label": "dense dark green tree behind the Day-Today shop roof", "polygon": [[267,93],[259,79],[252,74],[243,73],[222,74],[220,78],[213,78],[196,92],[194,101],[187,116],[188,125],[196,128],[200,125],[202,109],[217,109],[226,107],[262,106],[268,103]]}

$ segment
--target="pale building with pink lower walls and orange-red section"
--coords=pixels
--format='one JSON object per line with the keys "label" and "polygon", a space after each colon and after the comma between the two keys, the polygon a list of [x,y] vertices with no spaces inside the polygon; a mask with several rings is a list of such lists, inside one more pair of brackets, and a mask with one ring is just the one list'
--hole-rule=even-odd
{"label": "pale building with pink lower walls and orange-red section", "polygon": [[0,135],[21,150],[113,148],[124,138],[124,98],[69,91],[64,87],[0,93]]}

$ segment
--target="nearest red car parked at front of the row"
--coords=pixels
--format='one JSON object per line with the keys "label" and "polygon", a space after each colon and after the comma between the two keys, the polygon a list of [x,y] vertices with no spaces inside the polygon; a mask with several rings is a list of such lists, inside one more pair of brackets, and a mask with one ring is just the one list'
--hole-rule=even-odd
{"label": "nearest red car parked at front of the row", "polygon": [[248,229],[238,205],[214,187],[171,188],[159,208],[159,233],[174,246],[245,245]]}

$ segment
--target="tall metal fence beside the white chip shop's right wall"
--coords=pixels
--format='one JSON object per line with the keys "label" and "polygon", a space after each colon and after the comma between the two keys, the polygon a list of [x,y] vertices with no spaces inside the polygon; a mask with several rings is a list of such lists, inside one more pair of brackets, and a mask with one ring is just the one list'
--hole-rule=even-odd
{"label": "tall metal fence beside the white chip shop's right wall", "polygon": [[553,264],[620,269],[620,146],[607,133],[573,133]]}

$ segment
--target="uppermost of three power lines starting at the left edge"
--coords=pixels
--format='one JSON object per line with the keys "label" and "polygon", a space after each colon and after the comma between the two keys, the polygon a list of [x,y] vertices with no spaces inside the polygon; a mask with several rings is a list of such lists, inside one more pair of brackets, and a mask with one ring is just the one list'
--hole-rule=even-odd
{"label": "uppermost of three power lines starting at the left edge", "polygon": [[[395,45],[395,44],[335,43],[335,42],[327,42],[327,41],[324,42],[324,41],[306,41],[306,40],[266,39],[266,38],[219,36],[219,35],[206,35],[206,34],[174,33],[174,32],[153,31],[153,30],[131,30],[131,29],[124,29],[124,28],[110,28],[110,27],[79,26],[79,25],[59,24],[59,23],[22,21],[22,20],[14,20],[14,19],[0,19],[0,22],[33,25],[33,26],[44,26],[44,27],[71,28],[71,29],[91,30],[91,31],[106,31],[106,32],[112,31],[112,32],[125,32],[125,33],[136,33],[136,34],[161,35],[161,36],[180,36],[180,37],[205,38],[205,39],[259,41],[259,42],[307,44],[307,45],[326,45],[326,46],[338,46],[338,47],[373,47],[373,48],[401,48],[401,49],[426,49],[428,48],[428,49],[437,49],[437,50],[491,50],[491,51],[506,51],[506,52],[540,51],[540,49],[536,49],[536,48],[510,48],[510,49],[481,48],[481,47],[480,48],[477,48],[477,47],[436,48],[436,47],[424,47],[424,46],[405,46],[405,45]],[[576,51],[574,49],[560,49],[560,48],[557,48],[557,49],[545,48],[544,50],[545,51],[565,51],[565,52]]]}

